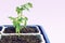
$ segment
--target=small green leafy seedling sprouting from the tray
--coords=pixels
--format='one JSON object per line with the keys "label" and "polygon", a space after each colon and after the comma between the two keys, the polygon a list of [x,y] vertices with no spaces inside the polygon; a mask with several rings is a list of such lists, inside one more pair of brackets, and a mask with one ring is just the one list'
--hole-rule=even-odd
{"label": "small green leafy seedling sprouting from the tray", "polygon": [[32,4],[30,2],[23,4],[21,6],[17,6],[16,8],[17,17],[12,17],[12,16],[9,17],[12,20],[13,26],[15,27],[16,33],[20,33],[20,30],[23,29],[23,27],[26,27],[28,18],[23,15],[23,11],[24,10],[28,11],[29,8],[32,8]]}

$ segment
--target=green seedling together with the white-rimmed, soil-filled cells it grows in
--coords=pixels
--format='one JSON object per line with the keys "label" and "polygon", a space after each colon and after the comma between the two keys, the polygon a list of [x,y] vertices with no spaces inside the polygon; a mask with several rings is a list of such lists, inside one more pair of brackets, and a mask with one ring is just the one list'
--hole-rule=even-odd
{"label": "green seedling together with the white-rimmed, soil-filled cells it grows in", "polygon": [[30,8],[30,2],[16,8],[17,17],[9,17],[13,25],[3,26],[0,43],[44,43],[39,28],[27,26],[28,18],[23,15],[23,11],[29,11]]}

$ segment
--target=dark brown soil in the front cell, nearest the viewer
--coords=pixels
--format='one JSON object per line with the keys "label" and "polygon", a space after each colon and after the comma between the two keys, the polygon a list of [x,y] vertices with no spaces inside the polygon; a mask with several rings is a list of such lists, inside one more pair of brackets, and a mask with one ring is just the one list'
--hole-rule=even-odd
{"label": "dark brown soil in the front cell, nearest the viewer", "polygon": [[0,43],[41,43],[39,35],[2,35]]}

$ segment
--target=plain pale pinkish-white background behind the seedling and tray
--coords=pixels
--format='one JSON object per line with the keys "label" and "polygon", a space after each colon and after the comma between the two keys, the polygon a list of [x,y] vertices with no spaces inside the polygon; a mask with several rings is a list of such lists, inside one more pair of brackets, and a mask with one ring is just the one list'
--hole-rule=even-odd
{"label": "plain pale pinkish-white background behind the seedling and tray", "polygon": [[17,5],[31,2],[34,8],[23,14],[28,25],[41,25],[51,43],[65,43],[65,0],[0,0],[0,25],[12,24],[9,16],[16,16]]}

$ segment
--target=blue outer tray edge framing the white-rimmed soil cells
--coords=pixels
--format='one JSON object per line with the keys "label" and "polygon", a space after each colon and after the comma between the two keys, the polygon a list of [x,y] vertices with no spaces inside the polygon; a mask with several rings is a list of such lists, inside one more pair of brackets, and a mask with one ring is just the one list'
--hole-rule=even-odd
{"label": "blue outer tray edge framing the white-rimmed soil cells", "polygon": [[[12,25],[4,25],[4,27],[9,27],[9,26],[12,26]],[[44,29],[40,26],[40,25],[35,25],[35,26],[38,26],[39,27],[39,30],[41,32],[41,34],[43,35],[43,39],[44,39],[44,42],[46,43],[50,43],[50,40],[44,31]],[[2,30],[2,26],[0,26],[0,31]]]}

